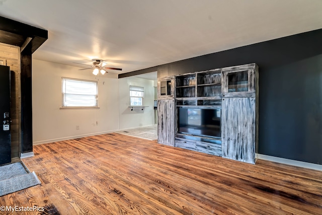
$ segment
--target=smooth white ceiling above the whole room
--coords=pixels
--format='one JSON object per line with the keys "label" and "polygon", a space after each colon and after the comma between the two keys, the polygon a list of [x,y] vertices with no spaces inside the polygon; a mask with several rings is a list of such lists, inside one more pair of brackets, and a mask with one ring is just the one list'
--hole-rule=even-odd
{"label": "smooth white ceiling above the whole room", "polygon": [[34,59],[120,74],[320,29],[322,1],[0,0],[0,16],[48,30]]}

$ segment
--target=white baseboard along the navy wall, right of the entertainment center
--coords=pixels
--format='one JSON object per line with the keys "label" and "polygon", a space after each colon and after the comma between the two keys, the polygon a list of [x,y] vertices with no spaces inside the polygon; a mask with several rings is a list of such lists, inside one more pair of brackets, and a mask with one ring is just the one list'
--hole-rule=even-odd
{"label": "white baseboard along the navy wall, right of the entertainment center", "polygon": [[258,159],[322,171],[322,165],[258,154]]}

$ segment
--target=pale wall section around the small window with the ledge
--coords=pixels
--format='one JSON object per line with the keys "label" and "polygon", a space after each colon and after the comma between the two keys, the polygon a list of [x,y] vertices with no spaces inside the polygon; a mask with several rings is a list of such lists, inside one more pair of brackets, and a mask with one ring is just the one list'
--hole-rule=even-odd
{"label": "pale wall section around the small window with the ledge", "polygon": [[[144,110],[140,108],[131,111],[129,86],[144,87]],[[151,80],[128,77],[119,79],[119,113],[120,129],[148,126],[154,124],[154,83]]]}

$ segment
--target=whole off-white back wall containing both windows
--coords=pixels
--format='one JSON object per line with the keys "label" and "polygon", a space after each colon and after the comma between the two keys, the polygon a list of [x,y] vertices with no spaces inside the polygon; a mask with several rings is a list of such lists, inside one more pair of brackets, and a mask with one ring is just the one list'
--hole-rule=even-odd
{"label": "whole off-white back wall containing both windows", "polygon": [[[33,59],[33,142],[72,139],[154,124],[155,82],[116,74],[100,76],[100,109],[60,109],[61,77],[97,81],[91,70]],[[129,85],[144,87],[144,106],[131,111]],[[76,129],[76,125],[79,129]]]}

